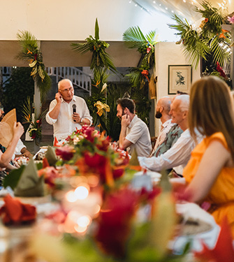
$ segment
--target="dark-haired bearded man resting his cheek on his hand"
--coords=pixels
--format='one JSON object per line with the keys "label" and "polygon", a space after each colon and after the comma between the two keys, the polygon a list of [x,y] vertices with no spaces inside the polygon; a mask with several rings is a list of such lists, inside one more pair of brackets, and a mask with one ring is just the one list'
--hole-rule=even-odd
{"label": "dark-haired bearded man resting his cheek on his hand", "polygon": [[132,154],[136,150],[138,157],[148,157],[151,150],[149,129],[135,114],[136,105],[131,99],[117,100],[117,117],[121,119],[119,148]]}

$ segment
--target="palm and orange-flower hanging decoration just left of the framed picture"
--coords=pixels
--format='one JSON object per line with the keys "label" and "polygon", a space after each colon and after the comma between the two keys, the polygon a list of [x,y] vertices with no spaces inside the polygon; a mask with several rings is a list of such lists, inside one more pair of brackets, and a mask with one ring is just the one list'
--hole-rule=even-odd
{"label": "palm and orange-flower hanging decoration just left of the framed picture", "polygon": [[128,48],[137,48],[142,54],[138,67],[130,69],[126,75],[133,87],[144,87],[145,81],[149,82],[150,69],[154,66],[154,45],[156,45],[156,31],[150,31],[146,36],[140,27],[130,27],[123,34],[123,40]]}

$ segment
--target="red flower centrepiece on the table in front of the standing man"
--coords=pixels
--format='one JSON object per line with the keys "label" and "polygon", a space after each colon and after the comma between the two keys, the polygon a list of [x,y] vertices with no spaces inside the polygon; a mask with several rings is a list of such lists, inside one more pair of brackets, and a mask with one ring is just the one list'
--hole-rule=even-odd
{"label": "red flower centrepiece on the table in front of the standing man", "polygon": [[96,174],[102,183],[109,186],[124,174],[129,163],[128,154],[114,150],[110,138],[94,130],[93,126],[82,126],[66,138],[66,145],[55,152],[62,161],[78,166],[81,175]]}

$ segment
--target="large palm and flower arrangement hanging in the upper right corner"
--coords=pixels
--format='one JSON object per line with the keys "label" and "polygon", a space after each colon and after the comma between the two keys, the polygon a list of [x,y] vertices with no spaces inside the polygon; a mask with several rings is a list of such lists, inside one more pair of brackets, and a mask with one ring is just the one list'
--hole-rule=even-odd
{"label": "large palm and flower arrangement hanging in the upper right corner", "polygon": [[221,28],[226,21],[226,14],[221,8],[214,8],[207,1],[203,1],[201,6],[203,9],[195,9],[205,18],[200,27],[192,27],[187,20],[184,22],[175,14],[173,20],[176,24],[169,24],[169,27],[178,31],[176,35],[180,36],[180,41],[177,41],[177,44],[182,43],[184,53],[190,57],[195,68],[202,58],[210,61],[212,63],[210,67],[214,69],[217,62],[220,66],[224,66],[231,61],[231,54],[228,50],[231,44],[231,34]]}

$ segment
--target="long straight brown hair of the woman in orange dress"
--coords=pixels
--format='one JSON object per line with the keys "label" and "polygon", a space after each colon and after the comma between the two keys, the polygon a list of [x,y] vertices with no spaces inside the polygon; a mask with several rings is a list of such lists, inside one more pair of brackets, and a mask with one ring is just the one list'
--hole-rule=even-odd
{"label": "long straight brown hair of the woman in orange dress", "polygon": [[234,106],[226,82],[207,76],[193,83],[190,92],[189,129],[204,136],[223,133],[234,161]]}

